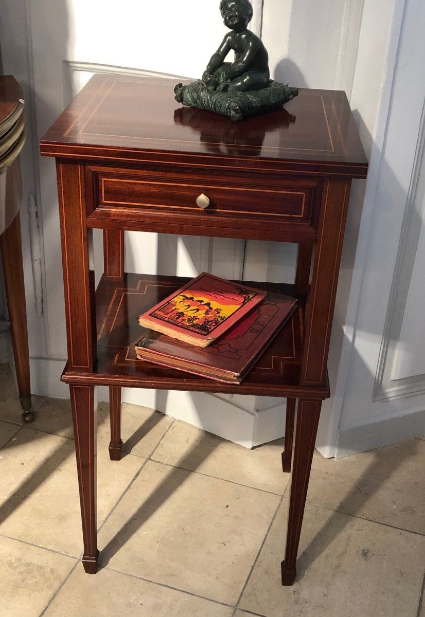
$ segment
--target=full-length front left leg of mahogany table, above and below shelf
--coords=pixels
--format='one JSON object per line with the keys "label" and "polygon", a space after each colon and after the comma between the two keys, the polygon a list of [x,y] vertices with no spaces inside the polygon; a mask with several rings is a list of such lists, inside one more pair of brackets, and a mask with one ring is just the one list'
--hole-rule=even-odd
{"label": "full-length front left leg of mahogany table, above and below shelf", "polygon": [[[90,269],[84,166],[57,160],[67,323],[67,370],[93,373],[97,362],[95,273]],[[96,572],[96,421],[94,386],[70,385],[86,573]]]}

